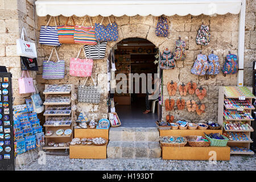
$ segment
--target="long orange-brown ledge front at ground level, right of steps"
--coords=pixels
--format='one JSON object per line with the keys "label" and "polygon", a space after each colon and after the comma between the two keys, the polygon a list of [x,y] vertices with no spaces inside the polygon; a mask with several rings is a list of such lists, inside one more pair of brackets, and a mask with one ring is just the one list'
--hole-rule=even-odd
{"label": "long orange-brown ledge front at ground level, right of steps", "polygon": [[164,160],[209,160],[216,152],[216,160],[230,160],[230,147],[161,147]]}

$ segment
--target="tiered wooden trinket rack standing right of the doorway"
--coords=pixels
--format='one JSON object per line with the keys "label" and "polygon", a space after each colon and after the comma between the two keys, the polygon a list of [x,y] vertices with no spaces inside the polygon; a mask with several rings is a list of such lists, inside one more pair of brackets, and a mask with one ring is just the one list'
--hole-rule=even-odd
{"label": "tiered wooden trinket rack standing right of the doorway", "polygon": [[254,154],[250,150],[250,133],[254,131],[251,115],[255,107],[252,88],[245,86],[221,86],[218,96],[218,123],[229,138],[230,154]]}

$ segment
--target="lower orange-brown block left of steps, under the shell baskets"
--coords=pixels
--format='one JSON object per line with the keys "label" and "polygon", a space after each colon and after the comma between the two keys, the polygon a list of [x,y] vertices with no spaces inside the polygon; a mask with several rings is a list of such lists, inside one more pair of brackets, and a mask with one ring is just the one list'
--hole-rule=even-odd
{"label": "lower orange-brown block left of steps, under the shell baskets", "polygon": [[69,158],[71,159],[106,159],[106,147],[108,143],[102,146],[75,145],[69,146]]}

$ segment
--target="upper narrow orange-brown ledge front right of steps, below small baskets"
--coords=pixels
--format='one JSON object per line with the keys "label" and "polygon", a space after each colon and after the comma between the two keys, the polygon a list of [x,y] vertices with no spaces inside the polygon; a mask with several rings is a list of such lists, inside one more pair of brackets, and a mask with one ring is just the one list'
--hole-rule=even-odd
{"label": "upper narrow orange-brown ledge front right of steps, below small baskets", "polygon": [[164,136],[180,136],[180,137],[187,137],[187,136],[204,136],[204,133],[220,133],[222,134],[222,130],[159,130],[160,137]]}

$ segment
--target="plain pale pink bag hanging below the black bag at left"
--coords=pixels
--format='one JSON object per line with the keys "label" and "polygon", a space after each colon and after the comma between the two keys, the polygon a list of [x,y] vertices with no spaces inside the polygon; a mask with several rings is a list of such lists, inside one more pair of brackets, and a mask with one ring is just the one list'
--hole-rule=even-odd
{"label": "plain pale pink bag hanging below the black bag at left", "polygon": [[[26,76],[26,73],[28,77]],[[35,92],[33,78],[30,77],[28,71],[22,71],[22,77],[19,77],[18,85],[20,94]]]}

